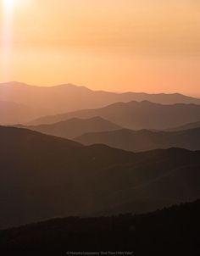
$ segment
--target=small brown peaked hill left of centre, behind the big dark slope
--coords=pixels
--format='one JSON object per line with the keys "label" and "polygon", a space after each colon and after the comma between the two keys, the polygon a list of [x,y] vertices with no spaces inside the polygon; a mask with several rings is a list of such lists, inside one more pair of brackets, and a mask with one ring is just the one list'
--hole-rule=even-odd
{"label": "small brown peaked hill left of centre, behind the big dark slope", "polygon": [[108,120],[103,120],[101,117],[92,117],[91,119],[86,120],[73,118],[71,120],[61,121],[52,125],[36,125],[24,127],[33,131],[40,131],[49,135],[71,139],[75,136],[81,136],[86,132],[114,131],[121,128],[119,125],[115,125]]}

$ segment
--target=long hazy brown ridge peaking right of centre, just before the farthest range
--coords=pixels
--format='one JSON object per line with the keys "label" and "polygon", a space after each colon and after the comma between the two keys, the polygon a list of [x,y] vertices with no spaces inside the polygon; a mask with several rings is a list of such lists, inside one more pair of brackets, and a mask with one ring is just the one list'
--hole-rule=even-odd
{"label": "long hazy brown ridge peaking right of centre, just before the farthest range", "polygon": [[52,124],[75,117],[88,119],[94,116],[100,116],[114,122],[114,124],[132,130],[163,130],[199,120],[200,106],[193,104],[161,105],[150,102],[114,103],[103,109],[87,109],[46,116],[31,122],[31,124]]}

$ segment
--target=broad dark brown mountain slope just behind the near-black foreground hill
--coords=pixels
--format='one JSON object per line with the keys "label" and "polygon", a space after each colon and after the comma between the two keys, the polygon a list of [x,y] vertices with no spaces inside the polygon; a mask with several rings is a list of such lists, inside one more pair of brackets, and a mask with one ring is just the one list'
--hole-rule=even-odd
{"label": "broad dark brown mountain slope just behind the near-black foreground hill", "polygon": [[0,127],[0,226],[142,213],[200,197],[200,152],[130,153]]}

